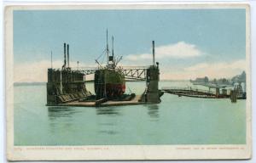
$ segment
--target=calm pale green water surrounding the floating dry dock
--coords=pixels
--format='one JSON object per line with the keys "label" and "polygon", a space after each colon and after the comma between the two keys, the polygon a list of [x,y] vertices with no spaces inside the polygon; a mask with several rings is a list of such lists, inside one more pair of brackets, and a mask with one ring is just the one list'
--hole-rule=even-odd
{"label": "calm pale green water surrounding the floating dry dock", "polygon": [[[137,93],[145,87],[127,85]],[[189,85],[160,82],[160,87]],[[246,143],[245,100],[231,104],[167,93],[161,99],[137,106],[47,107],[45,85],[15,86],[15,145]]]}

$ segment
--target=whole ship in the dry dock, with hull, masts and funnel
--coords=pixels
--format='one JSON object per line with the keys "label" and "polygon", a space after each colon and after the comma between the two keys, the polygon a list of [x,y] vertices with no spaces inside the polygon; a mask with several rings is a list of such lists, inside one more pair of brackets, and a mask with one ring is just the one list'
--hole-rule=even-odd
{"label": "whole ship in the dry dock, with hull, masts and funnel", "polygon": [[96,99],[100,98],[119,98],[125,93],[125,75],[119,71],[117,65],[122,57],[115,58],[113,55],[113,37],[112,37],[112,53],[109,53],[108,49],[108,31],[107,31],[107,46],[105,49],[107,55],[107,64],[102,66],[96,60],[99,65],[98,70],[94,76],[94,87],[96,93]]}

